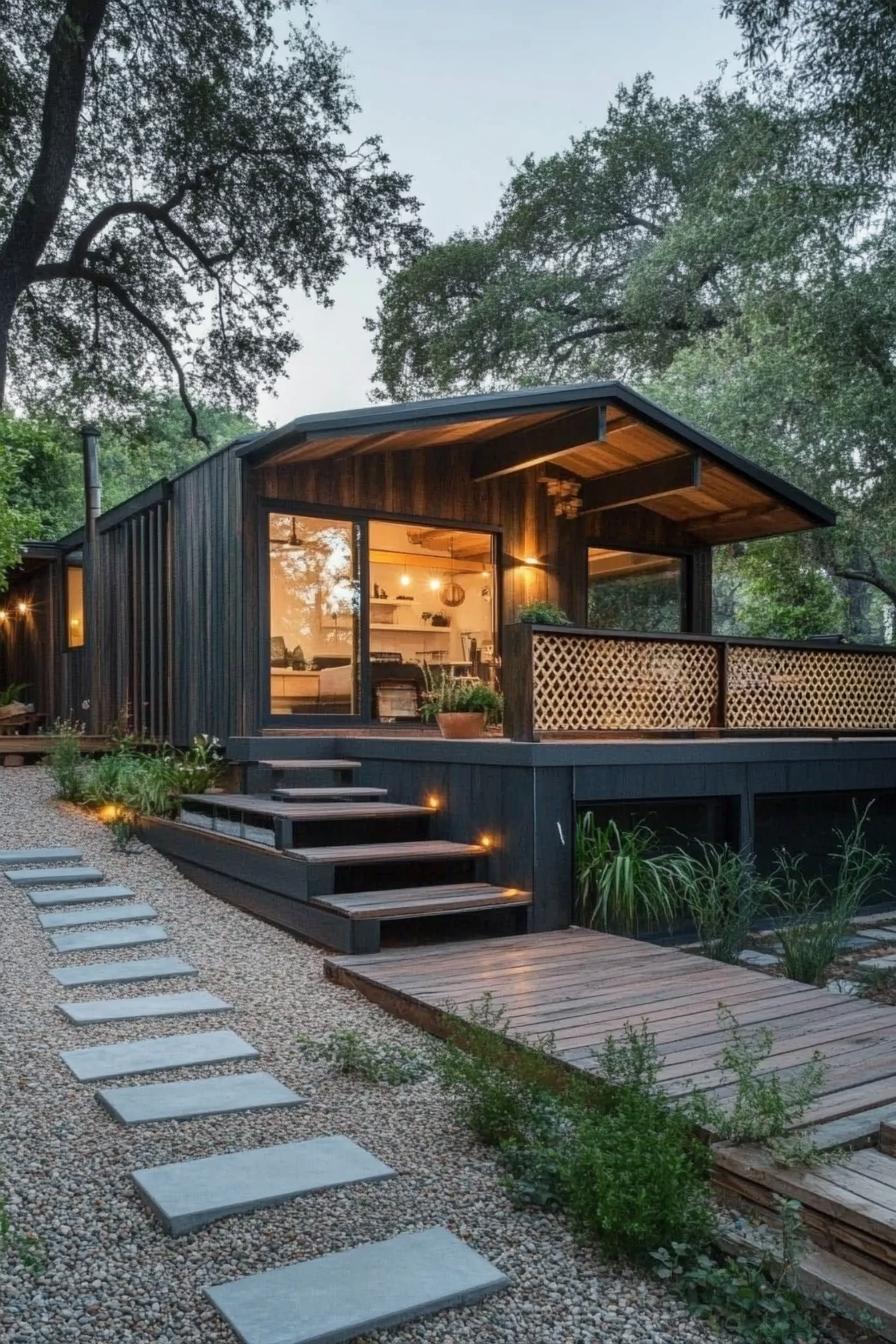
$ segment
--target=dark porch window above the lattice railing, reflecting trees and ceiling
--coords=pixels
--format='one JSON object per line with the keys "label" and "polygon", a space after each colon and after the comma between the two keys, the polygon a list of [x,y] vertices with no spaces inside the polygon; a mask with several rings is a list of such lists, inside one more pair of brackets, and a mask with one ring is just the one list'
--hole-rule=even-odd
{"label": "dark porch window above the lattice railing, reflecting trees and ceiling", "polygon": [[643,634],[681,630],[682,562],[588,547],[588,625]]}

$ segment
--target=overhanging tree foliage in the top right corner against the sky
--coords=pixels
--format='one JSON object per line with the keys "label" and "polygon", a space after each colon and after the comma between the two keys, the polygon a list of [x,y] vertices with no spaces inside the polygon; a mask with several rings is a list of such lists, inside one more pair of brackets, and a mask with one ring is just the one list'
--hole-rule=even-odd
{"label": "overhanging tree foliage in the top right corner against the sky", "polygon": [[813,129],[872,176],[896,157],[892,0],[724,0],[760,87],[776,85]]}

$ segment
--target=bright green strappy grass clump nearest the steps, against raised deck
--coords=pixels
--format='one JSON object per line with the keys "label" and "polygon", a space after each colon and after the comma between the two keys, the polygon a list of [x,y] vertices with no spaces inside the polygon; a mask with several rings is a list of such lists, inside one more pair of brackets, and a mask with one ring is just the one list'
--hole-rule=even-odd
{"label": "bright green strappy grass clump nearest the steps, against raised deck", "polygon": [[588,929],[634,934],[672,926],[678,913],[676,868],[658,845],[642,821],[623,829],[613,820],[598,825],[592,812],[578,817],[579,918]]}

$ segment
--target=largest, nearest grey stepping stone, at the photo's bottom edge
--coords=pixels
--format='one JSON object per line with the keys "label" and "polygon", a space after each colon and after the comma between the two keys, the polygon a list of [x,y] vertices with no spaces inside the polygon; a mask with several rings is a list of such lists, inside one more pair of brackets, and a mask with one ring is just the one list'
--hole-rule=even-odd
{"label": "largest, nearest grey stepping stone, at the photo's bottom edge", "polygon": [[508,1284],[447,1227],[427,1227],[215,1284],[206,1296],[243,1344],[339,1344]]}

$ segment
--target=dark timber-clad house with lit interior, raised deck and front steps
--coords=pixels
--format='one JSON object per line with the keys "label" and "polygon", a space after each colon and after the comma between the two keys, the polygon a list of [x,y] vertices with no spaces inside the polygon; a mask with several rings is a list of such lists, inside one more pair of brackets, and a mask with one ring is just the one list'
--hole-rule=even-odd
{"label": "dark timber-clad house with lit interior, raised deck and front steps", "polygon": [[[306,415],[27,547],[4,677],[226,739],[243,792],[152,837],[306,937],[560,927],[583,805],[760,857],[853,798],[889,833],[895,650],[712,634],[713,547],[833,521],[622,383]],[[501,735],[422,723],[441,672],[502,691]]]}

